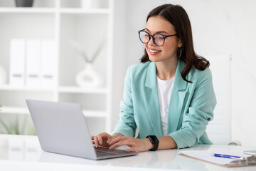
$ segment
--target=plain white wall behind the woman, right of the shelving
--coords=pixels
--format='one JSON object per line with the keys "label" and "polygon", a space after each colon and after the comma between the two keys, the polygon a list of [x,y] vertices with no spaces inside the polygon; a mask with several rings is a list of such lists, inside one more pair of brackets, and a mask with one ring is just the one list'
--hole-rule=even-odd
{"label": "plain white wall behind the woman, right of the shelving", "polygon": [[[256,133],[256,1],[252,0],[118,0],[114,25],[114,105],[119,100],[127,67],[138,63],[143,54],[137,31],[144,28],[146,16],[156,6],[180,4],[191,19],[196,53],[208,56],[232,56],[231,131],[232,140],[255,145]],[[117,12],[116,11],[116,12]],[[120,14],[120,15],[119,15]],[[117,41],[118,40],[118,41]],[[115,48],[116,47],[116,48]],[[221,63],[222,61],[220,61]],[[115,118],[117,120],[118,116]],[[113,123],[114,127],[114,123]]]}

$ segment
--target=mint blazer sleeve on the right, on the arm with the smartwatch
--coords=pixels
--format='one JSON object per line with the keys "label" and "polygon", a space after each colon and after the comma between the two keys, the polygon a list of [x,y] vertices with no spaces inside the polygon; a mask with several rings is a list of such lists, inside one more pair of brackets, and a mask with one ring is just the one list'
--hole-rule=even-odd
{"label": "mint blazer sleeve on the right, on the arm with the smartwatch", "polygon": [[200,142],[206,132],[208,121],[213,120],[213,109],[216,105],[215,93],[210,69],[198,71],[198,81],[194,87],[191,103],[183,115],[182,126],[169,134],[177,148],[191,147]]}

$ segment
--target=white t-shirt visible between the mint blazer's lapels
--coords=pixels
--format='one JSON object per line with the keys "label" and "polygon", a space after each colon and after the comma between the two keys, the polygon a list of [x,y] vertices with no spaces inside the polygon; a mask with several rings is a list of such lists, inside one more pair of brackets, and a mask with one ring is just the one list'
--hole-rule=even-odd
{"label": "white t-shirt visible between the mint blazer's lapels", "polygon": [[158,76],[156,76],[157,91],[159,95],[159,107],[161,113],[161,123],[163,127],[164,136],[167,135],[168,111],[171,99],[171,91],[174,87],[174,78],[171,78],[171,80],[164,81],[161,80]]}

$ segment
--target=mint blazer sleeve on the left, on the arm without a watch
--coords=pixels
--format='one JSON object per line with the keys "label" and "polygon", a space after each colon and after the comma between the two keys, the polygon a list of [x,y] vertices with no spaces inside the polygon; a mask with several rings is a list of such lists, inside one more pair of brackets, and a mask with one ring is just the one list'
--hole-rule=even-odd
{"label": "mint blazer sleeve on the left, on the arm without a watch", "polygon": [[127,70],[124,79],[124,93],[120,103],[120,113],[117,125],[113,133],[121,133],[124,136],[135,136],[137,125],[134,120],[134,108],[132,100],[132,67]]}

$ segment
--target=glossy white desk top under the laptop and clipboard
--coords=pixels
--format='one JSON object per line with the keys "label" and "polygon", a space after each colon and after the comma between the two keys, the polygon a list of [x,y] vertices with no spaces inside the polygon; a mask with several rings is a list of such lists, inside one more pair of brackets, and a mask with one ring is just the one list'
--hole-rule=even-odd
{"label": "glossy white desk top under the laptop and clipboard", "polygon": [[[235,147],[225,145],[196,145],[185,150],[256,150],[256,147]],[[178,155],[180,150],[159,150],[141,152],[132,157],[109,160],[87,160],[78,157],[43,152],[37,137],[0,135],[1,170],[256,170],[253,167],[220,167]]]}

